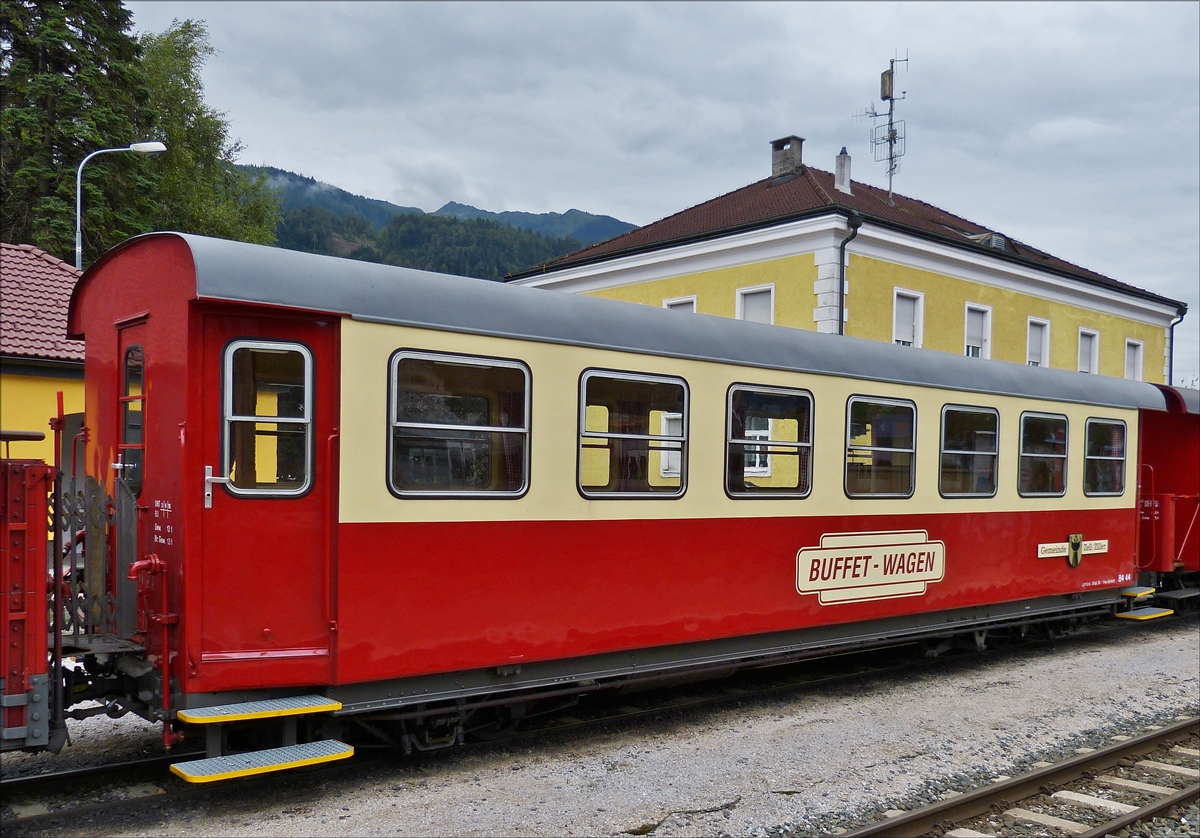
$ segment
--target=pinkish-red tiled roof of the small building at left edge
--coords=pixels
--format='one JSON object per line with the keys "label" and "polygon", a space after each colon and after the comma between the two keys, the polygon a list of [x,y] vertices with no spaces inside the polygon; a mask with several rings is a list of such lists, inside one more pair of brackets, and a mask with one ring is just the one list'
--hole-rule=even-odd
{"label": "pinkish-red tiled roof of the small building at left edge", "polygon": [[0,244],[0,355],[82,361],[67,340],[67,305],[79,271],[34,245]]}

